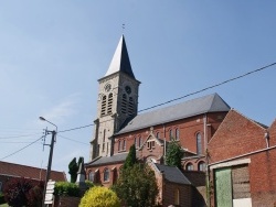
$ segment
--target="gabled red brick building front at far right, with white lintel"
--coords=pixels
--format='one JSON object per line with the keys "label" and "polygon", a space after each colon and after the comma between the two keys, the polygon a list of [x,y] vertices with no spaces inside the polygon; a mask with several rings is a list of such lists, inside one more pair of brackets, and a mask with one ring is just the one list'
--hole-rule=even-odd
{"label": "gabled red brick building front at far right, with white lintel", "polygon": [[[276,123],[266,128],[235,110],[231,110],[211,139],[209,150],[211,206],[217,206],[220,188],[215,186],[215,173],[232,171],[233,203],[250,199],[252,206],[273,206],[276,201]],[[238,170],[240,168],[240,170]],[[247,182],[243,174],[233,174],[242,168],[248,172]],[[244,171],[243,170],[243,171]],[[238,177],[240,176],[240,177]],[[244,178],[246,179],[246,178]],[[244,186],[236,189],[235,186]],[[240,192],[238,192],[240,190]],[[243,193],[242,190],[247,190]],[[235,199],[236,196],[236,200]]]}

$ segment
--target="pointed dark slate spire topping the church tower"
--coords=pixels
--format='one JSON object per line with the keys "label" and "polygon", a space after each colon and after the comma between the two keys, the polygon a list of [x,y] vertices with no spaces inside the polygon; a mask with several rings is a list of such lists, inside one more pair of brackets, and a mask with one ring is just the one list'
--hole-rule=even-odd
{"label": "pointed dark slate spire topping the church tower", "polygon": [[128,76],[135,78],[135,75],[132,73],[131,69],[131,65],[130,65],[130,61],[128,57],[128,52],[127,52],[127,46],[126,46],[126,42],[125,42],[125,37],[124,35],[121,35],[120,41],[118,43],[118,46],[115,51],[115,54],[113,56],[113,61],[109,65],[109,68],[105,75],[112,75],[116,72],[123,72],[125,74],[127,74]]}

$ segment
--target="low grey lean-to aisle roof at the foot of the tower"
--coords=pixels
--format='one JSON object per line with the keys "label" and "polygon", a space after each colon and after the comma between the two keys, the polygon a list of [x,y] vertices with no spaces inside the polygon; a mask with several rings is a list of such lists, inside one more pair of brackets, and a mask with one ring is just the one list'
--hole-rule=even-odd
{"label": "low grey lean-to aisle roof at the foot of the tower", "polygon": [[123,162],[126,160],[127,155],[128,155],[128,152],[114,154],[113,156],[100,156],[100,157],[93,160],[89,163],[86,163],[85,166],[95,166],[95,165],[102,165],[102,164],[108,164],[108,163]]}

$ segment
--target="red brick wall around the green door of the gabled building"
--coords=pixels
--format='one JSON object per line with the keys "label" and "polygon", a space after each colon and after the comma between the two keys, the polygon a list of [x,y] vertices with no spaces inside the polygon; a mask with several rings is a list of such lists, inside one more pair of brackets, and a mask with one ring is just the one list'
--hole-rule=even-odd
{"label": "red brick wall around the green door of the gabled building", "polygon": [[[276,144],[276,123],[270,126],[270,146]],[[273,206],[276,201],[276,148],[268,149],[265,133],[267,129],[231,110],[209,143],[210,164],[222,164],[248,159],[250,194],[253,206]],[[264,151],[259,151],[264,150]],[[259,152],[256,152],[259,151]],[[255,152],[255,153],[252,153]],[[250,155],[244,155],[252,153]],[[225,161],[227,160],[227,161]],[[235,167],[240,165],[233,165]],[[233,178],[233,177],[232,177]],[[211,171],[211,203],[215,206],[213,171]]]}

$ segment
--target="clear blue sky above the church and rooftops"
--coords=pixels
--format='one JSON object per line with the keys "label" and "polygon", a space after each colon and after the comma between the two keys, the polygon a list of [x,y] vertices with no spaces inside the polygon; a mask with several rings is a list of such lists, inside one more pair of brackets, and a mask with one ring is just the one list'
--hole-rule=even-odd
{"label": "clear blue sky above the church and rooftops", "polygon": [[[274,0],[0,1],[0,161],[46,168],[43,130],[55,127],[39,117],[57,126],[52,170],[89,161],[97,80],[123,33],[144,110],[276,63],[275,9]],[[273,65],[170,105],[217,92],[270,126],[275,77]]]}

